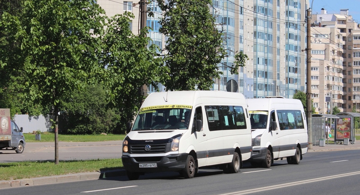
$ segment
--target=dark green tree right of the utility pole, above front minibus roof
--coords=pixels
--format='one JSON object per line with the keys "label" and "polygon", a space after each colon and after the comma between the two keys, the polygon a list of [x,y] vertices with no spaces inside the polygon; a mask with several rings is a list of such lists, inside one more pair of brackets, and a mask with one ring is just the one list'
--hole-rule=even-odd
{"label": "dark green tree right of the utility pole, above front minibus roof", "polygon": [[[163,82],[166,90],[208,90],[222,74],[218,64],[228,56],[224,43],[229,37],[217,29],[211,5],[211,0],[159,1],[159,32],[167,37],[164,59],[170,69],[170,78]],[[248,60],[242,52],[235,58],[234,64],[223,64],[233,74]]]}

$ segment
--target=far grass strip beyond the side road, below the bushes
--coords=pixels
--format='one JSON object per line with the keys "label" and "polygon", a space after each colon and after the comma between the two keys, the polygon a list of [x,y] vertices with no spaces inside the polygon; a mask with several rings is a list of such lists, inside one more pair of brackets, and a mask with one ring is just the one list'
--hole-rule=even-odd
{"label": "far grass strip beyond the side road, below the bushes", "polygon": [[[65,142],[90,142],[90,141],[117,141],[123,140],[126,135],[63,135],[59,134],[59,141]],[[26,142],[55,142],[55,134],[43,132],[40,134],[40,140],[35,140],[35,135],[32,133],[24,133]]]}

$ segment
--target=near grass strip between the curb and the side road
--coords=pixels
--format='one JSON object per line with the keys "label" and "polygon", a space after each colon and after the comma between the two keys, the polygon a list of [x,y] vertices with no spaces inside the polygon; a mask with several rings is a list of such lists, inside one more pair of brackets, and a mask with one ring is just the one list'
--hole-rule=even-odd
{"label": "near grass strip between the curb and the side road", "polygon": [[25,161],[0,164],[1,180],[19,180],[45,176],[57,176],[71,173],[84,173],[121,169],[121,159],[69,160],[55,165],[50,161]]}

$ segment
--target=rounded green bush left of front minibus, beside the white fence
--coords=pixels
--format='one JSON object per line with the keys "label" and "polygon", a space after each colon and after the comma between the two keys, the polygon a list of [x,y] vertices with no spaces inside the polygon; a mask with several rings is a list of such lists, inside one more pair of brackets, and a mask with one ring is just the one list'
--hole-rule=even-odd
{"label": "rounded green bush left of front minibus, beside the white fence", "polygon": [[120,114],[118,109],[108,108],[105,89],[100,84],[75,90],[63,105],[59,131],[87,135],[116,132]]}

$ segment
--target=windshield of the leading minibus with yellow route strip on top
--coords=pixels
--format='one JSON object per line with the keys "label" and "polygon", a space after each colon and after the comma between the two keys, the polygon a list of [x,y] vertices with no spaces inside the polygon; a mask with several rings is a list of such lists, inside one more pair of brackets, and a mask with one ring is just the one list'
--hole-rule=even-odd
{"label": "windshield of the leading minibus with yellow route strip on top", "polygon": [[[131,131],[187,129],[192,106],[152,109],[160,106],[141,108]],[[182,107],[182,108],[179,108]]]}

